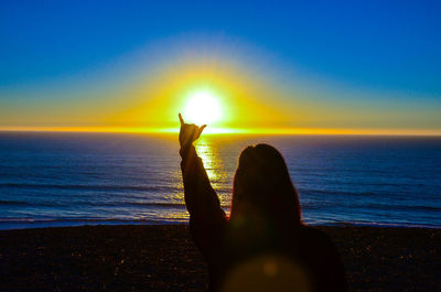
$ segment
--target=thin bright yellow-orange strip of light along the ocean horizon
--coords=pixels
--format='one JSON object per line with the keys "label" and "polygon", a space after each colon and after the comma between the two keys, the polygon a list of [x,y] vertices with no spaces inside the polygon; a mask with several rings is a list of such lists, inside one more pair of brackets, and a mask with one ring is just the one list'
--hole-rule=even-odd
{"label": "thin bright yellow-orange strip of light along the ocean horizon", "polygon": [[[103,133],[179,133],[179,128],[147,127],[0,127],[0,132],[103,132]],[[206,128],[205,134],[311,134],[311,136],[434,136],[428,129],[343,129],[343,128]]]}

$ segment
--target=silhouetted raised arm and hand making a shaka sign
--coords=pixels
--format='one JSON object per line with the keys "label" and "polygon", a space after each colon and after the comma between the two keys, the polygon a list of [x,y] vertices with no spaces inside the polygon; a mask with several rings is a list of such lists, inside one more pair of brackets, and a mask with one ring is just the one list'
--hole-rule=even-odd
{"label": "silhouetted raised arm and hand making a shaka sign", "polygon": [[215,240],[213,231],[222,228],[226,216],[220,208],[216,192],[213,190],[202,160],[197,156],[193,142],[200,138],[206,125],[198,127],[185,123],[181,113],[180,154],[181,170],[184,182],[185,205],[190,213],[190,228],[196,245],[205,249]]}

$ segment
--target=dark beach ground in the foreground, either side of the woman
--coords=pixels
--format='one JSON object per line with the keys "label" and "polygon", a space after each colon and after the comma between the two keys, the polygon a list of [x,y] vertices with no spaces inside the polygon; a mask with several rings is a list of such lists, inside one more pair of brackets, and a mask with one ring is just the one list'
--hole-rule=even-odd
{"label": "dark beach ground in the foreground, either side of the woman", "polygon": [[[441,229],[318,227],[337,246],[349,291],[441,291]],[[204,291],[185,225],[0,231],[0,291]]]}

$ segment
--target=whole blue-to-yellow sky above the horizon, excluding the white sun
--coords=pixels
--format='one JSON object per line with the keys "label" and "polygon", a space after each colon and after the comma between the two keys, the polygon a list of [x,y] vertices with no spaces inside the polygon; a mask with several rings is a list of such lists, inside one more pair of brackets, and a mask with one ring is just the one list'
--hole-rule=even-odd
{"label": "whole blue-to-yellow sky above the horizon, excluding the white sun", "polygon": [[208,86],[234,104],[225,127],[441,133],[440,15],[440,1],[1,1],[0,128],[174,127],[176,96]]}

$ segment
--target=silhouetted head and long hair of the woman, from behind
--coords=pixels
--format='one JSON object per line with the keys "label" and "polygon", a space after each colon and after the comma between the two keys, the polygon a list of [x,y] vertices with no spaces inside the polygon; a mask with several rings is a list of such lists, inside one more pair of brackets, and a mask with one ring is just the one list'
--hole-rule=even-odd
{"label": "silhouetted head and long hair of the woman, from behind", "polygon": [[298,226],[299,195],[283,156],[273,147],[247,147],[234,177],[230,218],[262,217],[283,226]]}

